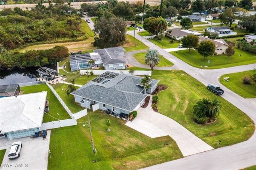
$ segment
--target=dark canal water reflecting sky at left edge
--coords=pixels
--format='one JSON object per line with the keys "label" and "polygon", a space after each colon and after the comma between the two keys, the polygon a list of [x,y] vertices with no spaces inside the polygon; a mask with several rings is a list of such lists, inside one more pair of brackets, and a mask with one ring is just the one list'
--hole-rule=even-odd
{"label": "dark canal water reflecting sky at left edge", "polygon": [[[56,65],[48,65],[48,68],[57,70]],[[30,67],[27,69],[13,69],[0,71],[0,85],[28,83],[36,81],[37,69],[40,67]]]}

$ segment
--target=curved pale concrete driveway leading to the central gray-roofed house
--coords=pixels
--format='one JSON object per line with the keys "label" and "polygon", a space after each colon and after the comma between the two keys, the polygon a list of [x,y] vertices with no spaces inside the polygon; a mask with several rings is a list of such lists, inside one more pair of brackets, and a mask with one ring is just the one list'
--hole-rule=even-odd
{"label": "curved pale concrete driveway leading to the central gray-roofed house", "polygon": [[183,156],[214,149],[176,121],[142,107],[138,109],[137,117],[125,125],[151,138],[171,136],[176,141]]}

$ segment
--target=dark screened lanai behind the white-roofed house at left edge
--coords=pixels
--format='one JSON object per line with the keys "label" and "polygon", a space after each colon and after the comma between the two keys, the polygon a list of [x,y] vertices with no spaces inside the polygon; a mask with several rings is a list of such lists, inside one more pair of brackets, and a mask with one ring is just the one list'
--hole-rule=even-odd
{"label": "dark screened lanai behind the white-roofed house at left edge", "polygon": [[20,94],[20,85],[1,85],[0,97],[18,96]]}

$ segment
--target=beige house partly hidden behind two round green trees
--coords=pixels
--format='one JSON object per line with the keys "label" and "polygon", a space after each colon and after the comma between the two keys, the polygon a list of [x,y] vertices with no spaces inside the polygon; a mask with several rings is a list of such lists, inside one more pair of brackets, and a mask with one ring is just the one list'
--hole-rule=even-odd
{"label": "beige house partly hidden behind two round green trees", "polygon": [[215,47],[216,47],[215,52],[217,53],[217,55],[226,53],[226,49],[228,48],[228,43],[226,43],[225,40],[223,39],[212,40],[208,37],[199,36],[199,43],[207,40],[210,40],[211,42],[215,43]]}

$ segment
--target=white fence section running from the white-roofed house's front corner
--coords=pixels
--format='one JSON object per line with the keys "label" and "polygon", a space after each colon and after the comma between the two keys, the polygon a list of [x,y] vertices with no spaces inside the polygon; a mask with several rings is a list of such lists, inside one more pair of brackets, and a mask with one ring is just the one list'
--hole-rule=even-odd
{"label": "white fence section running from the white-roofed house's front corner", "polygon": [[77,125],[76,119],[66,119],[66,120],[59,120],[59,121],[52,121],[43,123],[41,126],[41,130],[48,130],[52,128],[60,128],[60,127],[68,127]]}

